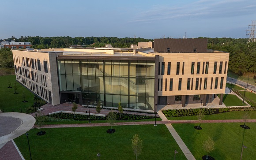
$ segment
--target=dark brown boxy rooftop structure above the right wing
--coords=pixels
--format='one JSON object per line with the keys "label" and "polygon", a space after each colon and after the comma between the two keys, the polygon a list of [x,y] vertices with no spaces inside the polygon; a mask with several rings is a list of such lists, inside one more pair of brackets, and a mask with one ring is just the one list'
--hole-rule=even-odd
{"label": "dark brown boxy rooftop structure above the right wing", "polygon": [[154,39],[154,52],[207,52],[207,39]]}

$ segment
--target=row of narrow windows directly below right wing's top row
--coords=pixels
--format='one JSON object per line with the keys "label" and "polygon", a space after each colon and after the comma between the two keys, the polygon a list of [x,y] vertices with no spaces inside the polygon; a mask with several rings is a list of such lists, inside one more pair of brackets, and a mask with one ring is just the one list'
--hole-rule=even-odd
{"label": "row of narrow windows directly below right wing's top row", "polygon": [[[204,78],[203,81],[203,89],[207,89],[207,81],[208,78]],[[223,81],[224,81],[224,77],[221,77],[220,79],[220,87],[219,89],[223,88]],[[167,78],[165,81],[165,91],[167,91]],[[187,80],[187,90],[193,90],[193,82],[194,82],[194,78],[188,78]],[[211,78],[211,89],[212,89],[212,84],[213,84],[213,77]],[[181,90],[181,85],[182,85],[182,78],[179,78],[179,82],[178,82],[178,90]],[[196,85],[195,85],[195,90],[201,90],[201,86],[202,86],[202,78],[196,78]],[[159,79],[158,78],[158,91],[162,91],[163,89],[163,78]],[[215,78],[215,83],[214,83],[214,89],[218,89],[218,77]],[[173,90],[173,78],[169,79],[169,91]]]}

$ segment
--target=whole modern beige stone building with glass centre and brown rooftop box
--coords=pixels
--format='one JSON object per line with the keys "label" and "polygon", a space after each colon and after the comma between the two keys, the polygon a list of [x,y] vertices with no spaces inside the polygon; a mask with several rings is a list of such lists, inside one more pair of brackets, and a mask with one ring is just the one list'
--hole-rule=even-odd
{"label": "whole modern beige stone building with glass centre and brown rooftop box", "polygon": [[155,39],[147,46],[13,50],[16,79],[53,105],[100,100],[150,112],[155,104],[202,100],[206,106],[216,94],[222,104],[228,52],[208,50],[203,38]]}

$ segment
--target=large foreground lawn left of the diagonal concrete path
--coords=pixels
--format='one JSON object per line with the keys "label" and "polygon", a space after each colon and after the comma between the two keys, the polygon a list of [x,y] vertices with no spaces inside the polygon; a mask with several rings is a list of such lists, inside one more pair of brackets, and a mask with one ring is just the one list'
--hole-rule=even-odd
{"label": "large foreground lawn left of the diagonal concrete path", "polygon": [[[138,134],[143,140],[143,153],[138,160],[170,160],[174,150],[177,160],[186,160],[181,149],[164,124],[113,126],[113,134],[106,133],[110,127],[43,128],[46,134],[37,136],[39,129],[29,133],[32,159],[36,160],[135,160],[132,152],[132,136]],[[26,135],[15,139],[26,160],[30,159]]]}

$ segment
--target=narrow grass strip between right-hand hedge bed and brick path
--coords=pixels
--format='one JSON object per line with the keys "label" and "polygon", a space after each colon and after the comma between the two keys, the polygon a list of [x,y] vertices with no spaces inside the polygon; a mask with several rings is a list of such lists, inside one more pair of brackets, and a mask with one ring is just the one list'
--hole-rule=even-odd
{"label": "narrow grass strip between right-hand hedge bed and brick path", "polygon": [[[256,119],[256,111],[248,111],[250,114],[249,119]],[[231,111],[226,113],[219,113],[214,115],[205,115],[204,120],[211,119],[243,119],[244,111]],[[184,117],[168,117],[168,120],[197,120],[196,115]]]}

